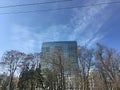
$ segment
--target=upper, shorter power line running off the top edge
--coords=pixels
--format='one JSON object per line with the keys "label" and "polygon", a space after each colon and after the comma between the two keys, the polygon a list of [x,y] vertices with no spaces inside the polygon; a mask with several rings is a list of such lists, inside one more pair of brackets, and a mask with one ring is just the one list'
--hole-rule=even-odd
{"label": "upper, shorter power line running off the top edge", "polygon": [[12,7],[32,6],[32,5],[50,4],[50,3],[60,3],[60,2],[68,2],[68,1],[72,1],[72,0],[57,0],[57,1],[48,1],[48,2],[38,2],[38,3],[28,3],[28,4],[17,4],[17,5],[0,6],[0,8],[12,8]]}

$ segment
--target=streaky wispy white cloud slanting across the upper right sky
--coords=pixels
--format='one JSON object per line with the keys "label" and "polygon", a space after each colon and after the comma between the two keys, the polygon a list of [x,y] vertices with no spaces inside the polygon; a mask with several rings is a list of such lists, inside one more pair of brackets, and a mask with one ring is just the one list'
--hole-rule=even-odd
{"label": "streaky wispy white cloud slanting across the upper right sky", "polygon": [[[111,0],[104,0],[110,2]],[[89,1],[84,4],[101,3],[101,0]],[[108,5],[95,7],[87,7],[76,9],[75,15],[71,22],[74,26],[73,34],[69,37],[71,40],[77,40],[79,44],[88,46],[93,45],[104,37],[101,28],[111,16],[111,11],[108,10]]]}

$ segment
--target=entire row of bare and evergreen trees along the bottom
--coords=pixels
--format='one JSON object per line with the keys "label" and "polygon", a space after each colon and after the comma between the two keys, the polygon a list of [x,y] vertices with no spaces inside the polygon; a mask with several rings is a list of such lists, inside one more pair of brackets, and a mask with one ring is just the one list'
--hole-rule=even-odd
{"label": "entire row of bare and evergreen trees along the bottom", "polygon": [[[66,60],[63,60],[66,59]],[[45,68],[41,68],[44,59]],[[6,51],[1,58],[4,74],[0,75],[2,90],[120,90],[120,53],[96,44],[90,49],[77,48],[78,67],[60,50],[51,55]],[[74,68],[73,73],[69,71]],[[18,79],[15,82],[15,79]]]}

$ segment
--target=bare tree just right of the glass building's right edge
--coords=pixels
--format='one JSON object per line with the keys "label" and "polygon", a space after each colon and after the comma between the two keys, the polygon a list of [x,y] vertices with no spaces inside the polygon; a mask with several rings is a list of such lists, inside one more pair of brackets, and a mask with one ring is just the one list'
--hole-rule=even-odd
{"label": "bare tree just right of the glass building's right edge", "polygon": [[89,71],[94,65],[93,63],[93,50],[86,47],[78,48],[78,63],[79,63],[79,87],[82,90],[89,90]]}

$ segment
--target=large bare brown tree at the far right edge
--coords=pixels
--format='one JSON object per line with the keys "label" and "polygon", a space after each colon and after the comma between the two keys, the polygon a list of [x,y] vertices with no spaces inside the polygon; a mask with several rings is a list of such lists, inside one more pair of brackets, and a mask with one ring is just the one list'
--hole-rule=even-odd
{"label": "large bare brown tree at the far right edge", "polygon": [[119,90],[120,82],[120,54],[114,49],[97,44],[96,67],[104,82],[104,89]]}

